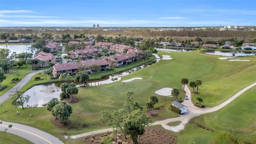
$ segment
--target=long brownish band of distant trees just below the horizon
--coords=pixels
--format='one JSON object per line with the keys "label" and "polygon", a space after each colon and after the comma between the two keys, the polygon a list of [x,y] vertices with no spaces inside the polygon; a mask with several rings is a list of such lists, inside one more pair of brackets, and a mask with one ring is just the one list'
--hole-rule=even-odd
{"label": "long brownish band of distant trees just below the horizon", "polygon": [[256,31],[220,31],[220,30],[195,30],[195,31],[149,31],[149,30],[129,30],[129,31],[103,31],[103,30],[38,30],[38,29],[0,29],[0,34],[15,33],[22,35],[41,35],[42,33],[51,33],[53,36],[70,34],[75,35],[83,33],[85,35],[102,36],[134,36],[134,37],[213,37],[213,38],[241,38],[250,41],[256,38]]}

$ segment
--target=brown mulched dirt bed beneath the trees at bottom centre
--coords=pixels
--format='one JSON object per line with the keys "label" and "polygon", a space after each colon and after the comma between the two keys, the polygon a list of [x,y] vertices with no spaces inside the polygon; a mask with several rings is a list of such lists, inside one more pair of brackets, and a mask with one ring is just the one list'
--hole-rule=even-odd
{"label": "brown mulched dirt bed beneath the trees at bottom centre", "polygon": [[[105,133],[105,134],[98,134],[98,135],[91,135],[89,137],[83,138],[84,143],[100,143],[100,140],[102,137],[105,137],[107,135],[110,135],[111,133]],[[126,136],[127,137],[127,136]],[[127,139],[124,138],[123,134],[118,134],[118,142],[122,144],[128,144],[132,143],[132,140],[130,136],[128,135]],[[163,143],[177,143],[177,136],[170,134],[169,132],[162,130],[159,127],[151,126],[146,127],[145,133],[141,135],[140,143],[143,144],[163,144]]]}

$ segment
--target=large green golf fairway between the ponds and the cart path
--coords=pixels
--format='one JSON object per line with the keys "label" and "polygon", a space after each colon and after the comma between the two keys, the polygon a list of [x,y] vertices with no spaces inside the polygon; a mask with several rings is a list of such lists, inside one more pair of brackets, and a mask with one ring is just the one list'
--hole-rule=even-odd
{"label": "large green golf fairway between the ponds and the cart path", "polygon": [[[19,110],[20,115],[17,116],[16,111],[20,108],[14,108],[11,105],[11,99],[3,103],[3,107],[0,109],[1,119],[37,127],[65,141],[61,135],[64,131],[73,135],[105,128],[105,124],[99,122],[100,111],[121,108],[125,98],[124,93],[127,91],[133,91],[135,93],[134,100],[145,107],[149,97],[157,95],[155,94],[156,90],[163,87],[177,88],[180,90],[179,97],[184,98],[181,78],[187,77],[189,81],[201,79],[203,84],[199,87],[200,94],[193,94],[192,99],[195,101],[196,97],[201,97],[207,107],[213,107],[227,100],[243,87],[256,82],[256,57],[245,57],[244,59],[251,61],[239,62],[219,60],[219,56],[207,55],[199,51],[159,52],[159,54],[171,55],[173,59],[161,60],[122,78],[142,77],[142,80],[128,82],[125,85],[119,81],[107,85],[79,88],[77,94],[79,102],[72,105],[71,127],[59,129],[53,125],[50,122],[51,113],[44,107]],[[158,116],[153,118],[155,121],[178,116],[170,110],[170,104],[174,98],[161,95],[157,95],[157,97],[159,103],[155,105],[157,109],[154,112]],[[30,114],[33,117],[30,117]],[[197,130],[198,134],[191,134]],[[202,137],[202,133],[205,137],[199,139]],[[188,140],[187,143],[193,143],[197,139],[203,143],[212,135],[210,131],[198,128],[194,124],[188,124],[185,131],[177,134],[182,140]]]}

